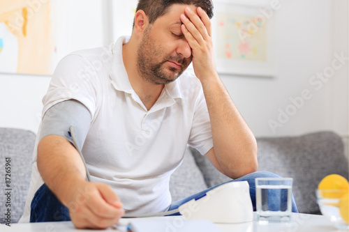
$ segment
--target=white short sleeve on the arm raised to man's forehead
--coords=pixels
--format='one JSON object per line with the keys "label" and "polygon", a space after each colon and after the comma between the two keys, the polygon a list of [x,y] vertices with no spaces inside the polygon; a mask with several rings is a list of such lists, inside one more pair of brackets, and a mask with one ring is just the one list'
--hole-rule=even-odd
{"label": "white short sleeve on the arm raised to man's forehead", "polygon": [[213,146],[209,111],[202,90],[195,103],[195,111],[188,145],[205,155]]}

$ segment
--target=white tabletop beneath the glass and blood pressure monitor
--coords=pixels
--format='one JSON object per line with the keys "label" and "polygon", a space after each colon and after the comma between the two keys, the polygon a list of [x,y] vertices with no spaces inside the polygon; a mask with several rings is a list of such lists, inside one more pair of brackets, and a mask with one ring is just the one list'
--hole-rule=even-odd
{"label": "white tabletop beneath the glass and blood pressure monitor", "polygon": [[[149,217],[147,219],[121,219],[121,225],[126,225],[132,220],[150,220],[154,217]],[[163,220],[179,220],[182,219],[181,216],[176,217],[156,217],[155,219]],[[296,214],[292,213],[291,222],[288,223],[269,223],[260,224],[256,220],[256,215],[254,212],[253,222],[246,222],[241,224],[216,224],[219,229],[223,232],[326,232],[326,231],[337,231],[334,226],[329,222],[327,218],[322,215],[307,215],[307,214]],[[109,228],[103,231],[123,231],[125,226],[116,228]],[[26,232],[83,232],[91,230],[77,230],[74,228],[71,222],[43,222],[43,223],[27,223],[27,224],[11,224],[11,226],[0,225],[0,231],[26,231]],[[99,230],[97,230],[99,231]],[[180,232],[180,230],[178,230]],[[194,231],[195,232],[195,231]]]}

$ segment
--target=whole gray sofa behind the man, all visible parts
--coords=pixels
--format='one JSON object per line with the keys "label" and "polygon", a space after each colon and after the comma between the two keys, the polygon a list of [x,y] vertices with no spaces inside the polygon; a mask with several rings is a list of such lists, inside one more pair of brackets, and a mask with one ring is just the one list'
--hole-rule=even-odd
{"label": "whole gray sofa behind the man, all visible parts", "polygon": [[[36,135],[33,132],[0,128],[0,223],[6,223],[5,157],[11,161],[11,223],[20,219],[29,188],[31,157]],[[341,137],[332,132],[316,132],[299,137],[258,138],[259,171],[272,171],[294,179],[293,193],[299,212],[319,213],[315,189],[331,173],[348,178],[348,160]],[[188,148],[184,162],[170,180],[172,200],[184,198],[207,187],[223,183],[224,176],[198,153]]]}

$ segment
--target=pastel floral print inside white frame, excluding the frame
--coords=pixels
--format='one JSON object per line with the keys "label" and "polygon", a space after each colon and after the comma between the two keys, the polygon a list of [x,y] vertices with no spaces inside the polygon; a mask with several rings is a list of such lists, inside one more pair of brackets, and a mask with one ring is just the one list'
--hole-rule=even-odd
{"label": "pastel floral print inside white frame, excluding the frame", "polygon": [[267,60],[267,25],[251,15],[218,13],[217,55],[221,59]]}

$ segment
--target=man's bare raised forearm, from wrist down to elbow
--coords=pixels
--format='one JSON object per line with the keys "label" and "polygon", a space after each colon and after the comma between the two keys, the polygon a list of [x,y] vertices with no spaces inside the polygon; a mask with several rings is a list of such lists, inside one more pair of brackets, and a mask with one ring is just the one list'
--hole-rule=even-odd
{"label": "man's bare raised forearm, from wrist down to elbow", "polygon": [[[214,77],[214,78],[213,78]],[[257,144],[228,91],[215,73],[202,79],[211,121],[214,153],[223,173],[232,178],[256,171]]]}

